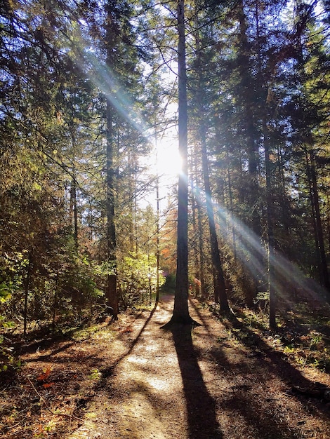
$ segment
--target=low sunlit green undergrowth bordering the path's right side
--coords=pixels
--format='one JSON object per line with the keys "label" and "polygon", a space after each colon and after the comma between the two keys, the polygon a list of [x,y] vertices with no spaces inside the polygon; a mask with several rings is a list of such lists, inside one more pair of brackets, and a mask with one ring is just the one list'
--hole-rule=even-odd
{"label": "low sunlit green undergrowth bordering the path's right side", "polygon": [[308,304],[299,304],[279,313],[276,330],[270,330],[268,315],[263,311],[236,307],[231,316],[224,316],[217,305],[207,306],[227,327],[228,337],[251,349],[278,351],[296,365],[330,372],[330,319],[326,306],[310,309]]}

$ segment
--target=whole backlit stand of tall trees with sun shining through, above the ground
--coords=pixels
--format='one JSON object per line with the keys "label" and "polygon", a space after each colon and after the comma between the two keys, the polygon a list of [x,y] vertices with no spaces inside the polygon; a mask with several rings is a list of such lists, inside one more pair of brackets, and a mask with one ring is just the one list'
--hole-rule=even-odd
{"label": "whole backlit stand of tall trees with sun shining through, above the ground", "polygon": [[[112,319],[176,285],[330,299],[327,1],[4,1],[1,321]],[[164,276],[164,277],[163,277]]]}

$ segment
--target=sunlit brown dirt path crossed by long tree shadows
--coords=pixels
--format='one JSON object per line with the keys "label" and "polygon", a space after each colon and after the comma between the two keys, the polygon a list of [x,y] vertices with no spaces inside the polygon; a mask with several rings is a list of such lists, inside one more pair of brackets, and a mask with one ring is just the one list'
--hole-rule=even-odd
{"label": "sunlit brown dirt path crossed by long tree shadows", "polygon": [[171,300],[119,320],[121,337],[95,356],[103,367],[84,421],[65,438],[330,438],[329,403],[291,393],[291,384],[329,386],[329,375],[297,370],[271,346],[244,346],[194,300],[202,326],[165,332]]}

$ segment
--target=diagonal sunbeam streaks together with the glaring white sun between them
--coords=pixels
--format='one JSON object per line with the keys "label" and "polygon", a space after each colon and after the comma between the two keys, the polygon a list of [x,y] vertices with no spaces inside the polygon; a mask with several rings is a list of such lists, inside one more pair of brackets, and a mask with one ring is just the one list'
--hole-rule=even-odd
{"label": "diagonal sunbeam streaks together with the glaring white sun between them", "polygon": [[[81,44],[88,48],[88,44],[82,36],[80,36],[80,39]],[[105,65],[105,62],[100,62],[100,59],[91,50],[86,50],[84,55],[79,55],[77,63],[81,71],[102,91],[107,100],[110,100],[118,114],[128,121],[133,128],[136,128],[138,133],[154,149],[157,149],[157,164],[154,164],[154,167],[158,168],[157,173],[159,172],[160,175],[167,177],[167,180],[171,180],[172,177],[178,175],[181,167],[180,156],[173,142],[173,137],[168,141],[166,140],[166,142],[160,141],[157,145],[152,128],[148,126],[143,116],[136,111],[133,100],[126,93],[112,69]],[[180,175],[180,178],[185,177]],[[196,198],[200,198],[200,191],[200,189],[195,189]],[[180,203],[180,199],[178,203]],[[267,245],[262,244],[260,236],[257,236],[246,224],[235,218],[225,207],[213,203],[213,208],[216,210],[220,233],[223,239],[232,247],[232,235],[235,234],[235,252],[239,261],[251,273],[251,276],[258,281],[265,278],[268,271],[268,261],[270,262],[275,274],[273,286],[277,292],[277,297],[285,302],[290,302],[292,291],[296,291],[301,297],[309,299],[325,299],[327,297],[326,290],[322,286],[307,278],[301,269],[293,262],[290,262],[289,259],[286,259],[279,250],[270,249],[271,251],[268,252],[269,249]]]}

